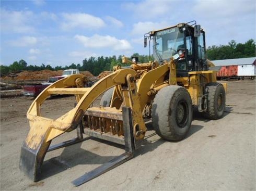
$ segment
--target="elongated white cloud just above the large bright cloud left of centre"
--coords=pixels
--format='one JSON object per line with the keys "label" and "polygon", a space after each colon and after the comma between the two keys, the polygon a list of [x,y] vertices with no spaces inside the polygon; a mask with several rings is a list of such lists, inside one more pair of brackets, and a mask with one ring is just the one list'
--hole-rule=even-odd
{"label": "elongated white cloud just above the large bright cloud left of centre", "polygon": [[105,23],[101,18],[89,14],[64,13],[62,16],[64,18],[64,21],[61,24],[63,30],[74,28],[99,29],[105,26]]}

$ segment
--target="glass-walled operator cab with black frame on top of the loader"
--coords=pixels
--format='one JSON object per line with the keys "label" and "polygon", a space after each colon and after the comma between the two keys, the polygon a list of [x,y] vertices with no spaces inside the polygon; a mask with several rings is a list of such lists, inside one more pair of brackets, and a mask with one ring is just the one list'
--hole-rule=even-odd
{"label": "glass-walled operator cab with black frame on top of the loader", "polygon": [[[190,25],[191,22],[194,23]],[[187,77],[190,71],[208,70],[205,58],[205,33],[195,21],[191,22],[151,31],[144,36],[144,47],[147,45],[147,39],[153,40],[153,56],[160,65],[179,54],[176,64],[177,77]]]}

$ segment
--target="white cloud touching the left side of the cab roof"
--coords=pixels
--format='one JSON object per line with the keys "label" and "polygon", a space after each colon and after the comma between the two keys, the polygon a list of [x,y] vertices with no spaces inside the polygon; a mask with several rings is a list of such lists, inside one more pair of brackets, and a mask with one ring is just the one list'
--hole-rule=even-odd
{"label": "white cloud touching the left side of the cab roof", "polygon": [[170,26],[170,23],[166,21],[161,21],[161,22],[137,22],[133,24],[133,30],[132,34],[145,34],[148,33],[149,31],[153,30],[159,30],[162,28],[166,28]]}

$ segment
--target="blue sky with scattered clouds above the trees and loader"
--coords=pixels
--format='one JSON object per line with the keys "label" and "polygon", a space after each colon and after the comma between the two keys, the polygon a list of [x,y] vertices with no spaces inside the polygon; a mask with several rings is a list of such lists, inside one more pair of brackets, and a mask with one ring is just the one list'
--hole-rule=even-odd
{"label": "blue sky with scattered clouds above the trees and loader", "polygon": [[196,20],[206,47],[256,39],[255,0],[2,1],[0,65],[69,66],[91,56],[148,55],[144,34]]}

